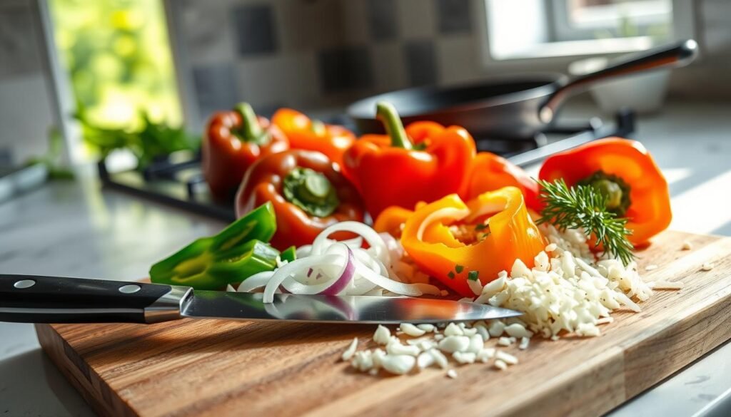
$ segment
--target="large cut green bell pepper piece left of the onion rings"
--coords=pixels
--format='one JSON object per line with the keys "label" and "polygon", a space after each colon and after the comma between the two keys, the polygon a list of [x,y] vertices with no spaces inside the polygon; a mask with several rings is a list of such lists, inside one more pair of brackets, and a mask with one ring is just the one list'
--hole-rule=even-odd
{"label": "large cut green bell pepper piece left of the onion rings", "polygon": [[150,269],[153,283],[201,290],[225,288],[257,272],[276,268],[279,250],[267,242],[276,232],[270,202],[238,219],[216,236],[195,240]]}

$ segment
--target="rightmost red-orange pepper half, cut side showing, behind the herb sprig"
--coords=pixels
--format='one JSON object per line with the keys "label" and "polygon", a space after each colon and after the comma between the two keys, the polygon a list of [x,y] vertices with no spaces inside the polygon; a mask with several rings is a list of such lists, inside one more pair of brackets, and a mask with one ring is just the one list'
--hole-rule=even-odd
{"label": "rightmost red-orange pepper half, cut side showing, behind the herb sprig", "polygon": [[599,139],[550,156],[538,177],[567,185],[593,185],[608,198],[607,208],[629,221],[635,245],[667,229],[673,219],[667,181],[647,149],[635,140]]}

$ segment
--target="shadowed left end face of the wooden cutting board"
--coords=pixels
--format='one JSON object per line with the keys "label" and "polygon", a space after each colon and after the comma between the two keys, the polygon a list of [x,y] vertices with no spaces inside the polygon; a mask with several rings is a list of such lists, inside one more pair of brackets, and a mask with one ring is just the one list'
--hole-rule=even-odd
{"label": "shadowed left end face of the wooden cutting board", "polygon": [[[42,350],[95,413],[102,417],[139,417],[124,399],[109,389],[107,383],[71,348],[67,340],[58,334],[53,324],[34,326]],[[107,402],[101,401],[99,397]]]}

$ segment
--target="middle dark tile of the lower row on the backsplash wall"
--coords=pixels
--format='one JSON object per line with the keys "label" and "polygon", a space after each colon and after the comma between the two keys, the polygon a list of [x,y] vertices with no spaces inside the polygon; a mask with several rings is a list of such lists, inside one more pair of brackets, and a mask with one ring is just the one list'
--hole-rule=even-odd
{"label": "middle dark tile of the lower row on the backsplash wall", "polygon": [[345,47],[318,53],[320,85],[325,93],[371,88],[374,83],[368,47]]}

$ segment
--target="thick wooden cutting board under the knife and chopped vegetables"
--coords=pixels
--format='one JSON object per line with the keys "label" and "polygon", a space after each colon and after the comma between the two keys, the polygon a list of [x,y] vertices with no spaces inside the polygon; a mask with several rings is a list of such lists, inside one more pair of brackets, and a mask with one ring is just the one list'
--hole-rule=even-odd
{"label": "thick wooden cutting board under the knife and chopped vegetables", "polygon": [[[683,241],[692,250],[681,250]],[[602,336],[507,348],[520,363],[371,376],[338,361],[374,326],[184,320],[36,326],[48,356],[102,416],[589,416],[605,413],[731,338],[731,238],[665,232],[641,313]],[[706,262],[714,264],[702,271]]]}

